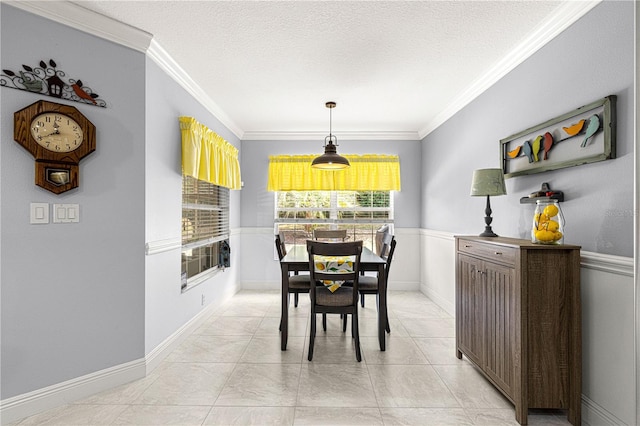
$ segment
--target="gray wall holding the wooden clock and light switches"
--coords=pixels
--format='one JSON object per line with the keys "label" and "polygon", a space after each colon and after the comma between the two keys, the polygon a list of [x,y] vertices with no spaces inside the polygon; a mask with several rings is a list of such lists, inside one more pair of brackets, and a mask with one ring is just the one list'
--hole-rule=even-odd
{"label": "gray wall holding the wooden clock and light switches", "polygon": [[[97,128],[80,188],[34,185],[13,112],[40,99],[1,88],[2,399],[144,357],[145,55],[2,3],[2,69],[53,58],[107,108],[66,102]],[[89,55],[91,53],[91,55]],[[32,202],[77,203],[80,223],[31,225]]]}

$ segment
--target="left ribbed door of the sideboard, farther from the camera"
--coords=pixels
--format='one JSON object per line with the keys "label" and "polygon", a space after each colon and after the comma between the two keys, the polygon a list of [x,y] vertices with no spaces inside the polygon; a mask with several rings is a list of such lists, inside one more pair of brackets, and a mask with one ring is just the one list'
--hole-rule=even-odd
{"label": "left ribbed door of the sideboard, farther from the camera", "polygon": [[458,350],[482,366],[484,346],[484,280],[482,261],[458,255],[456,339]]}

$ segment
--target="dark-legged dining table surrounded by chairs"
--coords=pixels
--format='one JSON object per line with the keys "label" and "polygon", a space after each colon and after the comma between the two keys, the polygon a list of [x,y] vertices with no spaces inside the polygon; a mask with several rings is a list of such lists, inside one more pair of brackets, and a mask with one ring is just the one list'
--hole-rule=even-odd
{"label": "dark-legged dining table surrounded by chairs", "polygon": [[[387,326],[387,289],[384,279],[386,260],[375,254],[371,249],[362,247],[360,256],[360,271],[374,271],[378,274],[378,342],[380,350],[386,348]],[[287,337],[289,326],[289,273],[297,271],[309,271],[309,254],[306,245],[294,245],[280,260],[282,270],[282,311],[280,349],[287,350]]]}

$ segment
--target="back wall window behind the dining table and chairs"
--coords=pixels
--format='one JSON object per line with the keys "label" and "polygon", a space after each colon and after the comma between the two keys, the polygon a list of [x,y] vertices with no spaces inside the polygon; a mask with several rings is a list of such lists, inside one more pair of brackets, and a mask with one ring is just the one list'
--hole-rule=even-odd
{"label": "back wall window behind the dining table and chairs", "polygon": [[350,241],[375,250],[375,237],[393,225],[392,191],[277,191],[275,228],[286,244],[304,244],[317,228],[346,229]]}

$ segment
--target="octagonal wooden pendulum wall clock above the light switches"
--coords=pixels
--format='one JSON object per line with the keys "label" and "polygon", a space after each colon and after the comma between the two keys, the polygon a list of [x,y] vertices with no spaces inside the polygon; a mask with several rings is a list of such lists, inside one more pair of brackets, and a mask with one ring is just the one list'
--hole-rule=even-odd
{"label": "octagonal wooden pendulum wall clock above the light switches", "polygon": [[36,185],[55,194],[78,187],[78,163],[96,150],[96,126],[75,107],[55,102],[15,112],[13,138],[36,160]]}

